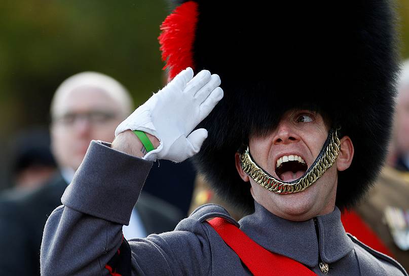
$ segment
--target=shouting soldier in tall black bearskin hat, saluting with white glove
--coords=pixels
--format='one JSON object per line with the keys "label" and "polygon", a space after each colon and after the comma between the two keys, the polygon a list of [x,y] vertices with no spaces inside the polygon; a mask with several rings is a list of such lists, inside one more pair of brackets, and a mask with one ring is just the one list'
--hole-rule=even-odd
{"label": "shouting soldier in tall black bearskin hat, saluting with white glove", "polygon": [[[348,235],[339,209],[386,152],[397,67],[387,1],[235,4],[188,1],[164,21],[174,78],[113,144],[91,143],[45,227],[43,275],[407,275]],[[195,154],[249,215],[203,205],[172,232],[124,239],[152,161]]]}

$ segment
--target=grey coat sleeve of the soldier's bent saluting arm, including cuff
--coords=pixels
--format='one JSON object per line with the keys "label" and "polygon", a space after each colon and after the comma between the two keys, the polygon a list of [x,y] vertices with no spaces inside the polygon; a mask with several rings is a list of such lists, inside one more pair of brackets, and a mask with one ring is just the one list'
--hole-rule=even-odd
{"label": "grey coat sleeve of the soldier's bent saluting arm, including cuff", "polygon": [[[208,233],[196,220],[189,231],[150,235],[130,240],[129,246],[123,240],[122,225],[129,223],[151,166],[151,162],[92,142],[61,198],[63,205],[47,220],[42,275],[111,275],[107,264],[126,247],[131,250],[129,259],[115,263],[129,265],[132,275],[207,275]],[[128,258],[128,254],[123,256]]]}

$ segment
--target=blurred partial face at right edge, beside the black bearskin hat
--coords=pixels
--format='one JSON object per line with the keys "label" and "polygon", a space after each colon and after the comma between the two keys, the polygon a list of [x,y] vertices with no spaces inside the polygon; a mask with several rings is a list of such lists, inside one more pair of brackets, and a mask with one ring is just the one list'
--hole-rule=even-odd
{"label": "blurred partial face at right edge, beside the black bearskin hat", "polygon": [[409,153],[409,86],[399,91],[396,106],[395,135],[397,150],[403,154]]}

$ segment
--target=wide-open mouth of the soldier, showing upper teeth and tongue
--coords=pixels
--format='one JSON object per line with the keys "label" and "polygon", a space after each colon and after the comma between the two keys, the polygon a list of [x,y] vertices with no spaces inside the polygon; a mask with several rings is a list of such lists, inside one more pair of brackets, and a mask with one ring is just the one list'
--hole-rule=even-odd
{"label": "wide-open mouth of the soldier, showing upper teeth and tongue", "polygon": [[291,182],[301,178],[308,169],[301,156],[284,155],[277,159],[276,175],[281,181]]}

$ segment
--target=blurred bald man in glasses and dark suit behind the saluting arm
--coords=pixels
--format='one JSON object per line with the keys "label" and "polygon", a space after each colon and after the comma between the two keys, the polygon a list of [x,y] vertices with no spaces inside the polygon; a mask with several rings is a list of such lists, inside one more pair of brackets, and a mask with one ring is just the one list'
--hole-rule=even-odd
{"label": "blurred bald man in glasses and dark suit behind the saluting arm", "polygon": [[[47,217],[58,205],[80,166],[91,140],[113,141],[116,126],[130,114],[133,100],[116,80],[96,72],[71,76],[51,103],[51,146],[60,173],[19,198],[0,201],[0,271],[8,275],[40,275],[40,247]],[[169,203],[141,195],[124,235],[144,237],[174,229],[182,215]]]}

